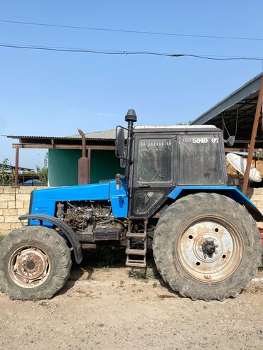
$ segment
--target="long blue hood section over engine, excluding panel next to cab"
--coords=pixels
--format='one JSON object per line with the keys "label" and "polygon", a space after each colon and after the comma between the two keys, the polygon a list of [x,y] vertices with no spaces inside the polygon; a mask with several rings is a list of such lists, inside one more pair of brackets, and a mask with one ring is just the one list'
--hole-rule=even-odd
{"label": "long blue hood section over engine, excluding panel next to cab", "polygon": [[[33,192],[31,214],[54,216],[56,202],[107,199],[109,199],[109,182],[37,190]],[[31,220],[30,224],[37,225],[39,222],[38,220]],[[45,226],[52,226],[48,222],[43,224]]]}

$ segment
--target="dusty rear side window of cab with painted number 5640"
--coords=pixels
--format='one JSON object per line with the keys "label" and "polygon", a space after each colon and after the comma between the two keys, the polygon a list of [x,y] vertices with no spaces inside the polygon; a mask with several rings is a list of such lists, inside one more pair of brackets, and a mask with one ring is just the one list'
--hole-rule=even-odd
{"label": "dusty rear side window of cab with painted number 5640", "polygon": [[222,185],[220,139],[216,135],[186,136],[178,141],[179,185]]}

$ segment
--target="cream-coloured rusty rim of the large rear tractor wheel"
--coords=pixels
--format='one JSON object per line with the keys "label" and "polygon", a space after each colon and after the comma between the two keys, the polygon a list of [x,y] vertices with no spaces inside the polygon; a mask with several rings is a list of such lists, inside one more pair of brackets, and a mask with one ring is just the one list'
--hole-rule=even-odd
{"label": "cream-coloured rusty rim of the large rear tractor wheel", "polygon": [[191,277],[205,283],[220,282],[240,266],[242,239],[237,229],[222,218],[199,218],[179,236],[177,256]]}

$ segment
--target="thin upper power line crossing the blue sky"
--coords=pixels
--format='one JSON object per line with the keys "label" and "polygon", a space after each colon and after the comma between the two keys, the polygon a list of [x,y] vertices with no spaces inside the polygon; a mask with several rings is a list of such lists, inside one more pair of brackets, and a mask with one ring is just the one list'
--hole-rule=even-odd
{"label": "thin upper power line crossing the blue sky", "polygon": [[156,32],[156,31],[129,31],[127,29],[94,28],[94,27],[83,27],[83,26],[60,25],[60,24],[52,24],[52,23],[35,23],[35,22],[6,21],[6,20],[0,20],[0,22],[1,23],[22,24],[22,25],[26,25],[26,26],[45,26],[45,27],[56,27],[56,28],[82,29],[85,31],[107,31],[107,32],[116,32],[116,33],[181,36],[181,37],[188,37],[188,38],[263,41],[263,38],[249,38],[249,37],[241,37],[241,36],[198,35],[198,34],[167,33],[167,32]]}

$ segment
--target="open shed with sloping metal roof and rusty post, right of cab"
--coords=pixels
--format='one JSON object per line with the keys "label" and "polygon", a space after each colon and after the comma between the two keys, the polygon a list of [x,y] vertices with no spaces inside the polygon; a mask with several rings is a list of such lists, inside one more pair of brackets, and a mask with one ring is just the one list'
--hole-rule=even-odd
{"label": "open shed with sloping metal roof and rusty post, right of cab", "polygon": [[249,151],[242,188],[244,194],[254,149],[263,147],[262,99],[263,73],[260,73],[192,122],[193,125],[213,124],[222,128],[225,138],[235,136],[234,147]]}

